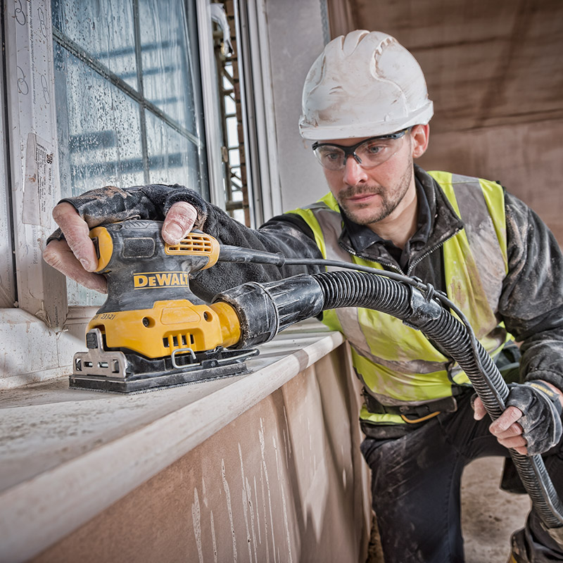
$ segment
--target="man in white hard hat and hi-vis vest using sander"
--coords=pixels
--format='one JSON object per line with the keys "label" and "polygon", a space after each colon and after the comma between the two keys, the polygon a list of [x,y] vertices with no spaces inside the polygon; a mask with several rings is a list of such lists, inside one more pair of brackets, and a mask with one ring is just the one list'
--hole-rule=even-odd
{"label": "man in white hard hat and hi-vis vest using sander", "polygon": [[[301,134],[324,167],[330,194],[258,231],[232,221],[183,186],[106,188],[53,210],[61,236],[49,264],[103,291],[88,228],[108,220],[165,217],[177,243],[194,225],[223,243],[289,257],[324,255],[422,278],[448,293],[495,358],[522,341],[521,377],[493,424],[460,369],[419,332],[368,310],[329,311],[353,349],[365,385],[362,453],[386,562],[460,562],[460,478],[476,457],[544,453],[556,486],[563,393],[563,259],[547,227],[494,182],[413,164],[429,143],[433,107],[422,70],[395,39],[356,31],[329,43],[305,81]],[[78,211],[78,213],[76,213]],[[217,265],[192,288],[204,298],[246,279],[303,271]],[[512,334],[512,336],[510,336]],[[525,416],[523,416],[525,415]],[[524,430],[525,429],[525,430]],[[563,488],[561,489],[563,490]],[[511,561],[563,560],[535,514],[512,538]]]}

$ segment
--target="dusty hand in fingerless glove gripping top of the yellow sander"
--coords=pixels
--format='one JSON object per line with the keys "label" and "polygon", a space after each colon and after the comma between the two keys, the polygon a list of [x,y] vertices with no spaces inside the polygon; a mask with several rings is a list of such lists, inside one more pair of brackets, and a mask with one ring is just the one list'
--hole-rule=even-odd
{"label": "dusty hand in fingerless glove gripping top of the yellow sander", "polygon": [[178,184],[150,184],[119,189],[106,186],[65,198],[53,209],[60,229],[49,236],[43,258],[47,264],[89,289],[106,291],[95,270],[98,260],[89,229],[127,219],[164,220],[163,239],[177,244],[205,222],[207,204],[195,191]]}

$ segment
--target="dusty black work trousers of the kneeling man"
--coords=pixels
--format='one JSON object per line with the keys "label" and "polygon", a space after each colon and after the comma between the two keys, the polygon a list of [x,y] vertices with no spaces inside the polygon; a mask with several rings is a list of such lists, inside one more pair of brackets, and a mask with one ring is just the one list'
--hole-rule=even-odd
{"label": "dusty black work trousers of the kneeling man", "polygon": [[[488,455],[508,457],[488,431],[491,419],[473,418],[471,393],[456,412],[438,415],[419,429],[394,439],[365,438],[362,453],[372,469],[373,507],[386,563],[464,561],[460,518],[463,468]],[[562,445],[545,465],[563,493]],[[563,551],[540,528],[533,510],[519,533],[531,563],[563,561]],[[507,557],[510,546],[507,545]],[[526,560],[526,559],[524,559]]]}

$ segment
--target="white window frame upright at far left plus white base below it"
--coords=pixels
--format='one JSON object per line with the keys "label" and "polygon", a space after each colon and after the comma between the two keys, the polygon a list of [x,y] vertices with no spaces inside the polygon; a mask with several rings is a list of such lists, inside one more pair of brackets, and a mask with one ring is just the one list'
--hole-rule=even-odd
{"label": "white window frame upright at far left plus white base below it", "polygon": [[72,329],[61,331],[68,317],[64,278],[42,260],[58,201],[51,5],[49,0],[15,0],[3,7],[3,130],[9,146],[3,177],[12,215],[2,217],[1,228],[13,234],[18,299],[17,308],[0,310],[0,339],[8,357],[0,387],[9,388],[61,373],[74,336]]}

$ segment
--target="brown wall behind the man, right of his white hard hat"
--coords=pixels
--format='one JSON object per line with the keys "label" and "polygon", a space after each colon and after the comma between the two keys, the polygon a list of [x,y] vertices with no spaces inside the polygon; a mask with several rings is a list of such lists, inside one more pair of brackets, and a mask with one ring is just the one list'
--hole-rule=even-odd
{"label": "brown wall behind the man, right of his white hard hat", "polygon": [[329,13],[332,37],[384,31],[419,61],[435,110],[423,167],[498,180],[563,243],[563,2],[329,0]]}

